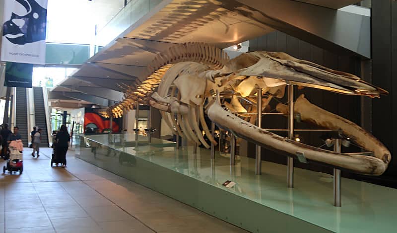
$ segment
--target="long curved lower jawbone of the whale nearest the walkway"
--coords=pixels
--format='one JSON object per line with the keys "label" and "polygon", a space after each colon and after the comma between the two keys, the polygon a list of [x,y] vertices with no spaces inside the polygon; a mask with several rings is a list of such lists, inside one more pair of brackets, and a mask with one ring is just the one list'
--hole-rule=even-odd
{"label": "long curved lower jawbone of the whale nearest the walkway", "polygon": [[327,151],[270,133],[227,112],[216,101],[208,107],[207,114],[213,122],[233,131],[238,137],[269,150],[290,155],[302,152],[309,161],[313,160],[367,175],[380,175],[387,168],[385,162],[376,157]]}

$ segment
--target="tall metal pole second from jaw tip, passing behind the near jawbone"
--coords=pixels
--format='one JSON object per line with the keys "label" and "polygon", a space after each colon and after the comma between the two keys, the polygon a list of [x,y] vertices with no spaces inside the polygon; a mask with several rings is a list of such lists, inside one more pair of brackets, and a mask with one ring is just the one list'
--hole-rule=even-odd
{"label": "tall metal pole second from jaw tip, passing behind the near jawbone", "polygon": [[[294,138],[294,85],[288,85],[288,138]],[[294,187],[294,158],[287,158],[288,188]]]}

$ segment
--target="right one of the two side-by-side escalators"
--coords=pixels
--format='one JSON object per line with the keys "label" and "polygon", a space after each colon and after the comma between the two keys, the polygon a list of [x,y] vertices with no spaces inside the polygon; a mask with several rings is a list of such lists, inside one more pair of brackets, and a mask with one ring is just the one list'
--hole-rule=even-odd
{"label": "right one of the two side-by-side escalators", "polygon": [[42,87],[33,87],[33,98],[34,98],[34,116],[36,127],[41,128],[41,143],[40,147],[48,147],[48,129],[47,129],[47,117],[44,105],[44,96]]}

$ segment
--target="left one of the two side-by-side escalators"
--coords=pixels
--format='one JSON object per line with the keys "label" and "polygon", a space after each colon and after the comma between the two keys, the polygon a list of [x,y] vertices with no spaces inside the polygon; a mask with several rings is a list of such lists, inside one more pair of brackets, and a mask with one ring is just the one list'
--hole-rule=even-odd
{"label": "left one of the two side-by-side escalators", "polygon": [[26,101],[26,88],[17,87],[15,98],[15,126],[19,128],[19,134],[21,135],[24,147],[28,146],[29,135]]}

